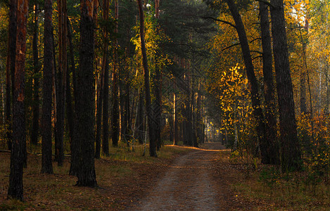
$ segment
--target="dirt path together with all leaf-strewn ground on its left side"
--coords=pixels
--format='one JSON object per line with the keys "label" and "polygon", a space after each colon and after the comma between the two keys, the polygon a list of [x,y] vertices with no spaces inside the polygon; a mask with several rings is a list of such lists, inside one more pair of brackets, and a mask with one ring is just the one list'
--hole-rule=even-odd
{"label": "dirt path together with all leaf-strewn ground on its left side", "polygon": [[[248,203],[231,188],[237,173],[222,162],[230,151],[220,143],[201,148],[164,146],[158,158],[112,148],[95,161],[98,188],[75,186],[53,162],[53,175],[40,174],[41,156],[29,153],[23,174],[25,201],[7,200],[10,153],[0,153],[0,210],[246,210]],[[222,159],[223,157],[223,159]]]}

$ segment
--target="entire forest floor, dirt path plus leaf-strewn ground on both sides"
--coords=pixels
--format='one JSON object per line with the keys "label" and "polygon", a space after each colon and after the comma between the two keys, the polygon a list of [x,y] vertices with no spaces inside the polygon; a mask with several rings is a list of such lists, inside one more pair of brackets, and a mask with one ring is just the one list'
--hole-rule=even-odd
{"label": "entire forest floor, dirt path plus leaf-strewn ground on both sides", "polygon": [[63,167],[53,162],[48,175],[39,173],[41,156],[29,153],[19,202],[7,200],[10,153],[0,152],[0,210],[330,210],[329,185],[306,186],[304,173],[264,174],[273,167],[241,160],[220,143],[163,146],[158,158],[142,153],[143,146],[120,146],[96,159],[98,188],[75,186],[70,157]]}

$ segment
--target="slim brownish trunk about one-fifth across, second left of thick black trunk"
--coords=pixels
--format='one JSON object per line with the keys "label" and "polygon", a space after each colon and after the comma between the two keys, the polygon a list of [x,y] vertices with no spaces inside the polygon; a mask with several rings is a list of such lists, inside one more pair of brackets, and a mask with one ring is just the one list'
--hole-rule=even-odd
{"label": "slim brownish trunk about one-fifth across, second left of thick black trunk", "polygon": [[65,88],[66,88],[66,77],[68,68],[67,59],[67,20],[66,15],[66,0],[58,1],[58,33],[59,33],[59,55],[58,55],[58,84],[57,84],[57,95],[56,95],[56,137],[57,141],[55,144],[56,161],[59,166],[63,165],[64,161],[64,105],[65,105]]}

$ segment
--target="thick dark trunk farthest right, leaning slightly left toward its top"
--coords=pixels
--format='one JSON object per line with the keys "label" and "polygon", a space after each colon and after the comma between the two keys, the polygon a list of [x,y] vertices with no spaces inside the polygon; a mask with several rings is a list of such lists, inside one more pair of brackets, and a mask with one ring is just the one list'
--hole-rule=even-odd
{"label": "thick dark trunk farthest right, leaning slightly left toward its top", "polygon": [[272,36],[274,63],[279,101],[279,128],[281,134],[282,170],[300,170],[302,167],[300,146],[297,137],[295,106],[288,63],[286,26],[283,0],[271,0]]}

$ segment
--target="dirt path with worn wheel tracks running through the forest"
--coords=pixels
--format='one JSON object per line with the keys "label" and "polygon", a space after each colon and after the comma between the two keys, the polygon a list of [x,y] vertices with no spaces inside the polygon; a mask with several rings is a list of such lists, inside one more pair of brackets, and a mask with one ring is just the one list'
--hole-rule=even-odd
{"label": "dirt path with worn wheel tracks running through the forest", "polygon": [[229,210],[230,188],[213,174],[223,149],[221,143],[205,143],[174,160],[137,210]]}

